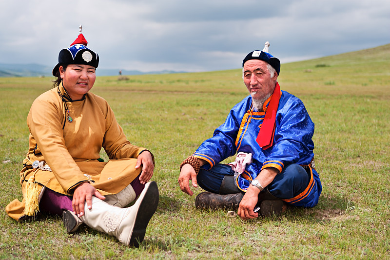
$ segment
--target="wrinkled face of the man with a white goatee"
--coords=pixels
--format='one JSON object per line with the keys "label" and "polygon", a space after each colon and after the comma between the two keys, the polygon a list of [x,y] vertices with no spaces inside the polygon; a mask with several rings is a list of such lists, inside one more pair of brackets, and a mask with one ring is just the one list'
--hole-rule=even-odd
{"label": "wrinkled face of the man with a white goatee", "polygon": [[267,64],[263,60],[248,60],[244,64],[244,83],[255,100],[267,100],[275,88],[277,73],[271,78]]}

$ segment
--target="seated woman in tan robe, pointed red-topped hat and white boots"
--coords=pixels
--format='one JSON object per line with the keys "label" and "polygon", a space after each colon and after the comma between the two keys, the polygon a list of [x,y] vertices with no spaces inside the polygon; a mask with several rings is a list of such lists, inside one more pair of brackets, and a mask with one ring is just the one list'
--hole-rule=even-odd
{"label": "seated woman in tan robe, pointed red-topped hat and white boots", "polygon": [[[80,26],[78,38],[59,53],[54,88],[31,106],[23,200],[13,200],[6,212],[15,220],[38,212],[62,215],[68,233],[85,223],[138,246],[158,204],[156,182],[148,182],[154,157],[131,144],[107,101],[89,92],[99,57],[86,45]],[[101,147],[108,162],[100,159]]]}

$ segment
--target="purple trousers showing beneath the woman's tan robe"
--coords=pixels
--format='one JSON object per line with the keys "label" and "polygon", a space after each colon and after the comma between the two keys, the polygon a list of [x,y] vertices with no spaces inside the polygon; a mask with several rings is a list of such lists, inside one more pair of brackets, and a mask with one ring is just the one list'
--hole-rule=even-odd
{"label": "purple trousers showing beneath the woman's tan robe", "polygon": [[[141,194],[145,185],[139,182],[139,175],[130,184],[136,192],[137,198],[138,195]],[[62,211],[64,210],[73,211],[72,199],[72,196],[66,196],[46,188],[42,198],[39,201],[39,211],[55,215],[62,215]]]}

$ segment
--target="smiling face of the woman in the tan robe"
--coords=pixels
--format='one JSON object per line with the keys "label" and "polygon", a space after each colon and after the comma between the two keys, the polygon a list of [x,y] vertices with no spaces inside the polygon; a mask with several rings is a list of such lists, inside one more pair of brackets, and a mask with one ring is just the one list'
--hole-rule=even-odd
{"label": "smiling face of the woman in the tan robe", "polygon": [[62,83],[72,100],[81,100],[96,80],[96,68],[90,65],[69,64],[59,67]]}

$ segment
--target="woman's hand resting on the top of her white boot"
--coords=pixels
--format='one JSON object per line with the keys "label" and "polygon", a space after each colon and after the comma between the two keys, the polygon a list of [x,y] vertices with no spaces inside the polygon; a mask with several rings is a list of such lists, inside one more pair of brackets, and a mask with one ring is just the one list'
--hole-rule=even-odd
{"label": "woman's hand resting on the top of her white boot", "polygon": [[83,182],[76,187],[75,192],[73,193],[72,208],[73,212],[78,217],[84,215],[85,201],[87,201],[88,209],[92,209],[92,196],[95,196],[100,200],[106,199],[89,182]]}

